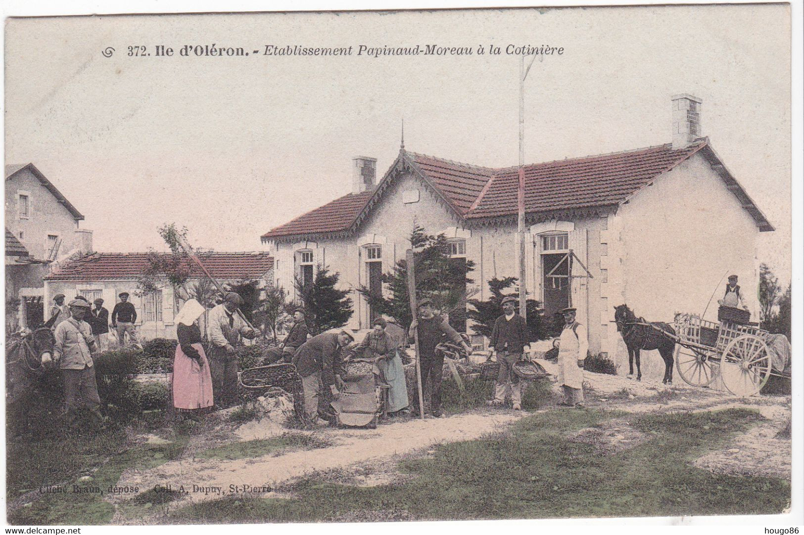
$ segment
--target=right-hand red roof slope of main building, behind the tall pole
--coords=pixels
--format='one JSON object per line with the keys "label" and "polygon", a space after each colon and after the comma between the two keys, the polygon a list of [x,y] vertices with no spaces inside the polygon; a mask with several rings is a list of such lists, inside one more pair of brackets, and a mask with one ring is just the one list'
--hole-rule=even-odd
{"label": "right-hand red roof slope of main building, behind the tall pole", "polygon": [[[613,206],[705,145],[670,144],[525,166],[525,212]],[[517,213],[519,169],[500,169],[468,218]]]}

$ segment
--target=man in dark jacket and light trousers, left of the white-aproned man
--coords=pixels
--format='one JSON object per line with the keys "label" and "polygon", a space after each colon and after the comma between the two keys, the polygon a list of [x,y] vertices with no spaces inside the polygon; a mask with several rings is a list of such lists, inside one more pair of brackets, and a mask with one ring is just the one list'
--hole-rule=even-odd
{"label": "man in dark jacket and light trousers, left of the white-aproned man", "polygon": [[522,392],[519,388],[519,376],[514,373],[514,364],[522,358],[524,346],[531,349],[527,324],[515,310],[516,298],[507,296],[503,299],[503,315],[494,321],[491,331],[490,347],[497,352],[500,365],[497,384],[494,386],[494,399],[488,402],[491,406],[502,406],[508,391],[511,391],[511,405],[514,410],[522,410]]}

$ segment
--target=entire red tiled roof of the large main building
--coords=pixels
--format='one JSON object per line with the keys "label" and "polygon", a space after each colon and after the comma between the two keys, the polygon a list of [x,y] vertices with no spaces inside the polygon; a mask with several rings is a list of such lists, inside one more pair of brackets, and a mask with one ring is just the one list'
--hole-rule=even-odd
{"label": "entire red tiled roof of the large main building", "polygon": [[[539,214],[617,206],[658,175],[699,151],[712,163],[741,206],[749,211],[757,227],[761,231],[773,231],[765,215],[720,162],[708,138],[699,139],[684,149],[674,150],[668,143],[621,153],[525,165],[525,212]],[[517,213],[519,168],[479,167],[403,150],[375,190],[338,198],[272,229],[262,236],[263,239],[354,230],[395,177],[392,169],[400,166],[412,168],[465,220]]]}

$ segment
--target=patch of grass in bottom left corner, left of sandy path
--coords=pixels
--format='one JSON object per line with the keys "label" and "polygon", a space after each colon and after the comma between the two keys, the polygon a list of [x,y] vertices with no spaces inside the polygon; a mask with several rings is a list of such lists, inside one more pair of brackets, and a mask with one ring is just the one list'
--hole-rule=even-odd
{"label": "patch of grass in bottom left corner, left of sandy path", "polygon": [[[8,513],[12,525],[99,525],[111,521],[113,505],[104,501],[109,486],[127,468],[147,470],[178,457],[189,439],[177,433],[167,444],[128,443],[119,429],[80,437],[54,435],[31,443],[9,443],[6,496],[16,498],[41,486],[67,484],[68,492],[44,494]],[[82,476],[92,481],[80,483]],[[86,491],[73,492],[73,485]]]}

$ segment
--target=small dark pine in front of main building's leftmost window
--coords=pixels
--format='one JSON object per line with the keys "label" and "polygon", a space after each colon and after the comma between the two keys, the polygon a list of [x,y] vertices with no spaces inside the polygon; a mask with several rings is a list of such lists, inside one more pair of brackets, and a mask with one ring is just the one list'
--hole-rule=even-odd
{"label": "small dark pine in front of main building's leftmost window", "polygon": [[318,266],[313,282],[304,284],[296,278],[296,290],[307,312],[307,326],[313,334],[347,325],[354,311],[349,290],[338,290],[340,274],[329,267]]}

